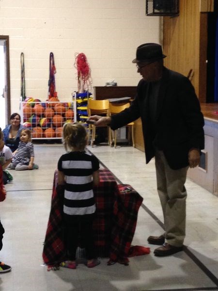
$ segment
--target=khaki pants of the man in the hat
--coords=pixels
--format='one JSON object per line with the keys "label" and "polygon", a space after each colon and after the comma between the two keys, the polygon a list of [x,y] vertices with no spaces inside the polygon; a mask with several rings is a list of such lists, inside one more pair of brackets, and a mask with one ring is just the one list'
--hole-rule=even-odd
{"label": "khaki pants of the man in the hat", "polygon": [[157,192],[159,194],[165,227],[166,241],[182,246],[186,235],[185,188],[188,167],[172,170],[162,151],[155,154]]}

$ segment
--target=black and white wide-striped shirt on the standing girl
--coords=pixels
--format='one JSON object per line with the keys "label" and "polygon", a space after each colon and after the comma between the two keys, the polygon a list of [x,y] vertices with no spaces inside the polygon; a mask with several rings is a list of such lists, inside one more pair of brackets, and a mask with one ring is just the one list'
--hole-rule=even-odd
{"label": "black and white wide-striped shirt on the standing girl", "polygon": [[85,152],[69,152],[61,156],[58,170],[65,175],[63,212],[84,215],[95,212],[93,172],[99,169],[98,159]]}

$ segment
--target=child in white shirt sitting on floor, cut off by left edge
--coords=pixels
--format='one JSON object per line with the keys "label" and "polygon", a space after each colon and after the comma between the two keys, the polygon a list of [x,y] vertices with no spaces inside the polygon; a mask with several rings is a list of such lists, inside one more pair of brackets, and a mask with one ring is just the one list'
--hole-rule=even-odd
{"label": "child in white shirt sitting on floor, cut off by left edge", "polygon": [[0,128],[0,165],[3,170],[3,184],[7,184],[8,181],[13,180],[11,174],[6,170],[7,166],[10,164],[13,157],[13,153],[8,146],[4,144],[4,134]]}

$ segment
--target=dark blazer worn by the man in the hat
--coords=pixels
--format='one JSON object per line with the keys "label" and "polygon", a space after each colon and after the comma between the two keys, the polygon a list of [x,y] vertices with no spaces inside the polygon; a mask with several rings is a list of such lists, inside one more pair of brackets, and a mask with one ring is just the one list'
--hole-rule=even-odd
{"label": "dark blazer worn by the man in the hat", "polygon": [[155,144],[163,150],[172,169],[186,167],[188,151],[204,148],[204,119],[194,87],[187,77],[163,68],[155,132],[149,117],[148,84],[144,79],[140,80],[131,106],[111,116],[110,127],[118,129],[141,117],[146,163],[155,155]]}

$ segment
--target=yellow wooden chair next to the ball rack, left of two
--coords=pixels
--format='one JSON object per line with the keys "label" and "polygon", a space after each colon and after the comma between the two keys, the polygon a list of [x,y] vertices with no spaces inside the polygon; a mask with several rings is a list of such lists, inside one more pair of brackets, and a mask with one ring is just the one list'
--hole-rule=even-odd
{"label": "yellow wooden chair next to the ball rack, left of two", "polygon": [[[88,116],[90,117],[91,115],[102,115],[102,116],[109,116],[109,100],[93,100],[89,99],[88,100],[88,105],[87,105],[87,112]],[[109,126],[105,126],[108,128],[108,144],[110,145],[110,131],[109,131]],[[95,140],[95,126],[93,124],[89,124],[89,134],[90,131],[92,130],[92,138],[91,138],[91,145],[93,147],[93,143]]]}

